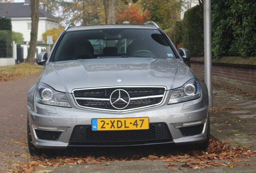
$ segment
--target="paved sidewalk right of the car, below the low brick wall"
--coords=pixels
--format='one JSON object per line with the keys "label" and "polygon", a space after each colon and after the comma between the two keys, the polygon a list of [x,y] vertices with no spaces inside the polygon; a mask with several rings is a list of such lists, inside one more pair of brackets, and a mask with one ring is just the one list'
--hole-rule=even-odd
{"label": "paved sidewalk right of the car, below the low brick wall", "polygon": [[[232,146],[252,146],[256,151],[256,96],[242,91],[213,90],[213,107],[210,113],[211,136],[229,141]],[[220,109],[219,109],[220,108]],[[221,110],[222,109],[222,110]],[[253,133],[254,135],[248,135]]]}

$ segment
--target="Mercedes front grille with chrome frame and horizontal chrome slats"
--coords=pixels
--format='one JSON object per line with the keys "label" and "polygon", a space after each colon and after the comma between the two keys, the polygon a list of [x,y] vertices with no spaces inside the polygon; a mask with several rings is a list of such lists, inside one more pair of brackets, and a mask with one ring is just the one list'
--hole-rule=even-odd
{"label": "Mercedes front grille with chrome frame and horizontal chrome slats", "polygon": [[[113,107],[110,103],[111,94],[117,89],[122,89],[129,94],[130,103],[122,110],[115,107],[123,107],[122,102],[115,103]],[[142,109],[160,105],[163,102],[166,93],[166,87],[149,87],[149,86],[128,86],[128,87],[103,87],[103,88],[88,88],[74,89],[72,95],[76,104],[82,108],[97,109],[103,111],[124,112],[135,109]],[[115,93],[116,97],[116,93]],[[128,97],[123,96],[122,99],[127,100]],[[113,99],[112,99],[113,101]]]}

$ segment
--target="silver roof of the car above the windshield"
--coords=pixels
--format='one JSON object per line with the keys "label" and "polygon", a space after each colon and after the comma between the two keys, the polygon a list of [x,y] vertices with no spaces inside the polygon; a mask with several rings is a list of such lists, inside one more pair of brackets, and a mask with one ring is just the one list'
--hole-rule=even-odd
{"label": "silver roof of the car above the windshield", "polygon": [[151,24],[141,24],[141,25],[95,25],[95,26],[67,26],[66,32],[78,31],[78,30],[93,30],[93,29],[158,29],[156,26]]}

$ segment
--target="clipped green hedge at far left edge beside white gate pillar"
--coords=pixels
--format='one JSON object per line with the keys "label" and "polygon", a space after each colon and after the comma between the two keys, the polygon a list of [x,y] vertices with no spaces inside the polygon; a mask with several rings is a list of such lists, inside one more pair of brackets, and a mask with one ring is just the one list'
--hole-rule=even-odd
{"label": "clipped green hedge at far left edge beside white gate pillar", "polygon": [[9,30],[0,30],[0,57],[12,57],[12,34]]}

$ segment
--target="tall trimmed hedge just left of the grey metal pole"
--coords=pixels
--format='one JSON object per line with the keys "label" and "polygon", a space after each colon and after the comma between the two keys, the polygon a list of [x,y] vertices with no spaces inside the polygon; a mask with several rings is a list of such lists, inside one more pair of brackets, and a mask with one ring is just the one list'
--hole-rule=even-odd
{"label": "tall trimmed hedge just left of the grey metal pole", "polygon": [[192,56],[204,54],[204,19],[200,6],[194,6],[184,13],[183,47],[190,50]]}

